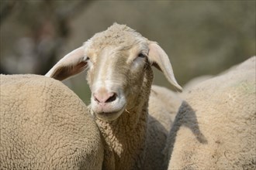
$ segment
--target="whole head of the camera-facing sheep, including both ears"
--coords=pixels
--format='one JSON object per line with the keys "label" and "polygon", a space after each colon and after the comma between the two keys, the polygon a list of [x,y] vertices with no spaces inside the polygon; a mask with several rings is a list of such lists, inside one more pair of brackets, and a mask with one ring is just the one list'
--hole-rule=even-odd
{"label": "whole head of the camera-facing sheep, including both ears", "polygon": [[99,119],[113,121],[125,110],[147,102],[153,80],[151,66],[182,90],[164,50],[133,29],[115,23],[64,56],[46,76],[64,80],[88,69],[92,112]]}

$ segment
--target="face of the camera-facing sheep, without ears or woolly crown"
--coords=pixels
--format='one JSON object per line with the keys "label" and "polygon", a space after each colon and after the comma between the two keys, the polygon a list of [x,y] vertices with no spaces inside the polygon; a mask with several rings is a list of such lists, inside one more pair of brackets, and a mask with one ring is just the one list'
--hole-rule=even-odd
{"label": "face of the camera-facing sheep, without ears or woolly crown", "polygon": [[133,46],[120,44],[102,50],[90,48],[90,43],[85,43],[85,55],[92,91],[91,110],[99,119],[113,121],[125,110],[137,107],[135,101],[146,89],[149,91],[147,84],[151,84],[153,73],[147,59],[148,43],[140,39]]}

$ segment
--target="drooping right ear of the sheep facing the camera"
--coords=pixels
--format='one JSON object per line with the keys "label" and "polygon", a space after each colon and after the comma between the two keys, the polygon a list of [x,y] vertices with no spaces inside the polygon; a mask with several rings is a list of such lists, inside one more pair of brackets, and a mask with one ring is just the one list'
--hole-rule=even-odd
{"label": "drooping right ear of the sheep facing the camera", "polygon": [[155,66],[158,70],[164,73],[167,80],[178,90],[182,91],[182,87],[178,85],[175,80],[175,75],[173,73],[171,62],[168,55],[164,52],[161,46],[158,46],[157,42],[149,43],[149,53],[148,59],[152,66]]}

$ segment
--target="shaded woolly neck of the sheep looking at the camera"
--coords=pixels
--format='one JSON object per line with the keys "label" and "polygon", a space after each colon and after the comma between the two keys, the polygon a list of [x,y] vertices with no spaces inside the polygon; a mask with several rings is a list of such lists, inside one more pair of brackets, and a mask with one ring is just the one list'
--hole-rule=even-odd
{"label": "shaded woolly neck of the sheep looking at the camera", "polygon": [[105,142],[103,167],[109,169],[141,169],[147,141],[148,100],[152,70],[144,77],[144,89],[137,98],[137,106],[125,110],[116,121],[101,121],[96,118]]}

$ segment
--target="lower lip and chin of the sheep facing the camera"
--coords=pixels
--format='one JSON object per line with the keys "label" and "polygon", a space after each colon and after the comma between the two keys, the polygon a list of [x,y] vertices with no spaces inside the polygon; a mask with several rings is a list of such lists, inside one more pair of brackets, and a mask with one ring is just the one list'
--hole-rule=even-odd
{"label": "lower lip and chin of the sheep facing the camera", "polygon": [[115,121],[121,114],[123,114],[123,111],[125,110],[125,106],[117,111],[112,112],[100,112],[96,113],[95,116],[102,121]]}

